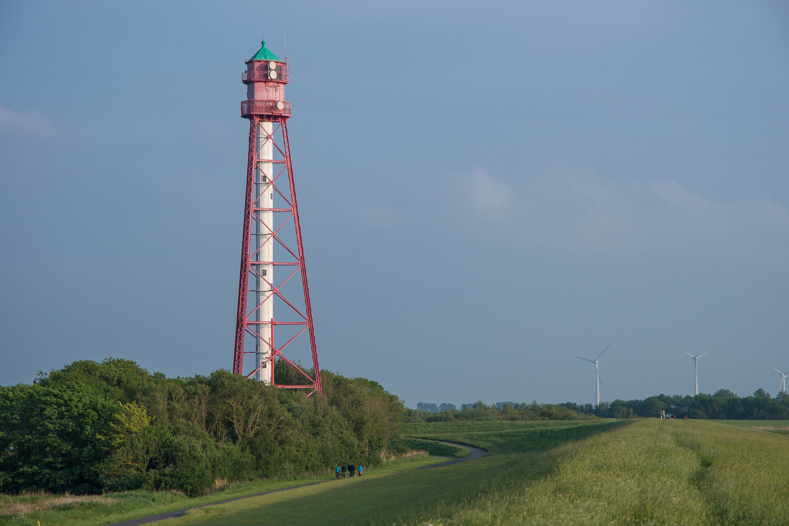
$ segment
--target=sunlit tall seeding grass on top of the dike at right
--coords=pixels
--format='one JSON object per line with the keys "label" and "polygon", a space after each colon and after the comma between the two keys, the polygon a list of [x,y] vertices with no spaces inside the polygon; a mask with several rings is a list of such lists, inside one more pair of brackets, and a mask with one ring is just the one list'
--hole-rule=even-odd
{"label": "sunlit tall seeding grass on top of the dike at right", "polygon": [[[548,475],[524,476],[555,462]],[[789,524],[789,438],[641,420],[503,466],[474,498],[408,524]]]}

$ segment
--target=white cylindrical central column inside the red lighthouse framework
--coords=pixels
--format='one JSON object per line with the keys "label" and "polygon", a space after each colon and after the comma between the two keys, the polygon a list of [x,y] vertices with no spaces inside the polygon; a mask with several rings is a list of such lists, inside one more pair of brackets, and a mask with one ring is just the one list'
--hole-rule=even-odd
{"label": "white cylindrical central column inside the red lighthouse framework", "polygon": [[[273,123],[271,121],[260,121],[257,130],[257,159],[274,159],[273,137],[271,132]],[[272,208],[273,192],[271,187],[271,176],[273,175],[273,164],[271,162],[257,162],[255,173],[255,207]],[[271,239],[271,232],[274,230],[274,212],[260,210],[257,212],[255,221],[255,240],[257,254],[254,261],[274,261],[274,240]],[[274,318],[274,296],[271,285],[274,283],[274,266],[271,264],[256,265],[258,276],[255,277],[255,307],[256,321],[264,322],[257,324],[255,338],[255,367],[259,367],[255,379],[259,382],[271,383],[274,376],[274,363],[266,364],[271,356],[272,327],[271,319]],[[270,285],[271,284],[271,285]],[[260,367],[264,364],[263,367]]]}

